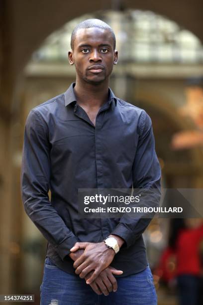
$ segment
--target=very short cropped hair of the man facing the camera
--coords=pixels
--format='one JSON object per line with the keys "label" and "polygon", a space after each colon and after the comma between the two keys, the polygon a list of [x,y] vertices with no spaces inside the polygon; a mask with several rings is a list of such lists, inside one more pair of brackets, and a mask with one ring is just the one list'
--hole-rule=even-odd
{"label": "very short cropped hair of the man facing the camera", "polygon": [[112,28],[110,27],[110,25],[108,25],[107,23],[103,22],[100,19],[86,19],[82,22],[80,22],[78,25],[76,25],[76,27],[74,28],[74,30],[72,31],[71,34],[71,48],[72,50],[74,49],[74,41],[76,39],[76,34],[77,31],[81,28],[91,28],[91,27],[98,27],[98,28],[102,28],[102,29],[107,29],[111,32],[112,38],[113,38],[113,50],[115,50],[115,34],[112,30]]}

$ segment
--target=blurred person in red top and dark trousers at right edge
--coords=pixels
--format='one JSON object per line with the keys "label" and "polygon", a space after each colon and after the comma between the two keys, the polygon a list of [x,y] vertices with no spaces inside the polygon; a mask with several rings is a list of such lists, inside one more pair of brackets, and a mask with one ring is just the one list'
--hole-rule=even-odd
{"label": "blurred person in red top and dark trousers at right edge", "polygon": [[180,305],[201,305],[203,276],[203,219],[185,219],[176,242],[177,285]]}

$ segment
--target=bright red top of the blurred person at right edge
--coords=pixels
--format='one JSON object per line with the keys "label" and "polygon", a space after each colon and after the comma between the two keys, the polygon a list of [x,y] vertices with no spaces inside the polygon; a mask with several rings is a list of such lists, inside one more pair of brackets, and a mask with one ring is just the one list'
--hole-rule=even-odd
{"label": "bright red top of the blurred person at right edge", "polygon": [[194,229],[181,230],[177,239],[177,275],[201,273],[200,242],[203,239],[203,225]]}

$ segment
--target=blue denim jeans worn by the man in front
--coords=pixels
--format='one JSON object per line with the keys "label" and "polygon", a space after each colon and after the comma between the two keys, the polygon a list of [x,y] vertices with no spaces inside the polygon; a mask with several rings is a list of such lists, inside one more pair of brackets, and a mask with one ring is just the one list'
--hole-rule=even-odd
{"label": "blue denim jeans worn by the man in front", "polygon": [[46,258],[40,305],[157,305],[149,265],[144,271],[116,280],[116,292],[97,295],[84,279],[62,271]]}

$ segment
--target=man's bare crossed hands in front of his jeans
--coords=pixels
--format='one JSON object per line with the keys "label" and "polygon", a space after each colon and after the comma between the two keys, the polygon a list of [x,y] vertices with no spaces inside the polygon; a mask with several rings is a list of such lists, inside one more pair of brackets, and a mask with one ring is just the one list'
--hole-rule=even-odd
{"label": "man's bare crossed hands in front of his jeans", "polygon": [[117,290],[117,282],[114,275],[123,272],[110,267],[115,251],[106,247],[104,242],[76,243],[69,256],[75,261],[73,267],[81,279],[85,279],[92,289],[98,294],[107,296]]}

